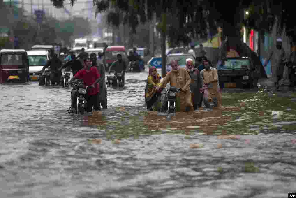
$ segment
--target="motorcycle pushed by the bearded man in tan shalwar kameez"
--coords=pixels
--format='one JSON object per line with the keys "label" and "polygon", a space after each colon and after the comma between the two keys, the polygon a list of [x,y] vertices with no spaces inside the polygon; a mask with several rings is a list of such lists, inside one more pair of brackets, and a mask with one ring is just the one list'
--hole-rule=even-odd
{"label": "motorcycle pushed by the bearded man in tan shalwar kameez", "polygon": [[176,94],[181,91],[180,88],[164,88],[161,92],[161,112],[176,113]]}

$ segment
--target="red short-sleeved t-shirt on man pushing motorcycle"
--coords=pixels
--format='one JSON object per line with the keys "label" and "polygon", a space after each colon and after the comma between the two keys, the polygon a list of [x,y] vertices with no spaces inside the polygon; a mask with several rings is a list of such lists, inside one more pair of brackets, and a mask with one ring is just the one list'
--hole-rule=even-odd
{"label": "red short-sleeved t-shirt on man pushing motorcycle", "polygon": [[[101,75],[99,74],[99,71],[96,67],[91,67],[90,70],[86,70],[86,69],[79,70],[74,77],[78,79],[83,79],[83,83],[86,86],[91,86],[92,84],[94,84],[96,79],[101,77]],[[89,95],[95,95],[97,93],[99,93],[98,83],[95,84],[94,88],[88,88]]]}

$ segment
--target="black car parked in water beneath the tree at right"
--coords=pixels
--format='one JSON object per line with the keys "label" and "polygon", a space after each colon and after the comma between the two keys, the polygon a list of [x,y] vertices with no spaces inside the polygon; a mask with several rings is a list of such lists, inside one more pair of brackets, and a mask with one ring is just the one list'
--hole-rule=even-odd
{"label": "black car parked in water beneath the tree at right", "polygon": [[255,88],[260,71],[250,58],[224,58],[217,65],[220,88]]}

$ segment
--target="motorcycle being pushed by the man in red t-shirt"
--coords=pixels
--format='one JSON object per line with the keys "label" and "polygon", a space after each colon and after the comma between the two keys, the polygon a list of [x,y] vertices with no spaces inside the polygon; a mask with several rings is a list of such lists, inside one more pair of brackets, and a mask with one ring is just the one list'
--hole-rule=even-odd
{"label": "motorcycle being pushed by the man in red t-shirt", "polygon": [[[77,111],[76,111],[76,113],[77,114],[79,114],[79,113],[83,114],[84,111],[87,108],[87,102],[86,102],[86,99],[85,99],[85,95],[86,95],[87,88],[89,88],[90,86],[85,86],[83,83],[81,83],[79,81],[78,82],[73,82],[73,83],[71,83],[71,85],[73,86],[72,91],[73,90],[78,91],[78,96],[76,98],[76,100],[77,100],[77,109],[76,109]],[[71,93],[72,93],[72,91],[71,91]],[[74,98],[74,100],[75,100],[75,98]]]}

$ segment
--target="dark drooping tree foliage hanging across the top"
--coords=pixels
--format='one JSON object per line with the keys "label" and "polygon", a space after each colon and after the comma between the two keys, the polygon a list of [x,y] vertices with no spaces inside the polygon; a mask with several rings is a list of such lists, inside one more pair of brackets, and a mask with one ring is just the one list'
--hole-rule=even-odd
{"label": "dark drooping tree foliage hanging across the top", "polygon": [[[65,0],[51,0],[56,7],[62,7]],[[70,0],[74,3],[75,0]],[[264,33],[271,31],[275,18],[279,18],[279,34],[284,26],[287,34],[295,35],[293,3],[289,1],[238,0],[227,4],[216,0],[93,0],[96,14],[109,12],[108,23],[119,26],[128,23],[135,32],[140,23],[146,23],[155,14],[159,22],[167,14],[166,27],[168,39],[178,44],[190,42],[190,38],[216,33],[217,26],[223,28],[224,36],[240,37],[243,25]],[[249,15],[245,15],[248,10]],[[164,26],[165,23],[159,23]]]}

